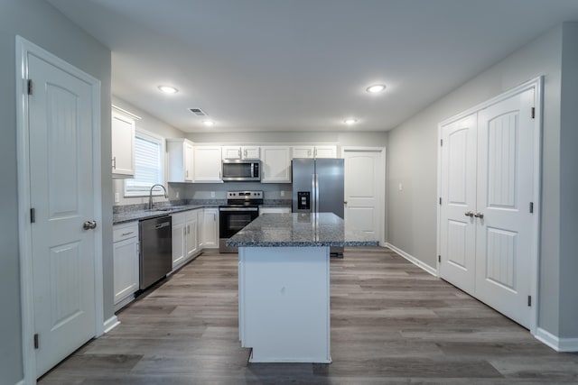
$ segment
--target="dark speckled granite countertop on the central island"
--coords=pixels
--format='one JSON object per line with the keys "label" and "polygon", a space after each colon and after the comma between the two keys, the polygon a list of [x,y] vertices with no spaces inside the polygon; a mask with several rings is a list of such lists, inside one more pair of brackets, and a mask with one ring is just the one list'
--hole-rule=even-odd
{"label": "dark speckled granite countertop on the central island", "polygon": [[345,228],[332,213],[264,214],[228,239],[231,247],[378,246],[357,229]]}

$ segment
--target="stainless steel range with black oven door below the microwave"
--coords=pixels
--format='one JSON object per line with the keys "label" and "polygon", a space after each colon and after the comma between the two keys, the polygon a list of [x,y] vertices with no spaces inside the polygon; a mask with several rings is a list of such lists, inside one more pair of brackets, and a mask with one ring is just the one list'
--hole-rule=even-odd
{"label": "stainless steel range with black oven door below the microwave", "polygon": [[231,236],[259,216],[263,191],[228,191],[227,206],[219,206],[219,252],[238,252],[225,244]]}

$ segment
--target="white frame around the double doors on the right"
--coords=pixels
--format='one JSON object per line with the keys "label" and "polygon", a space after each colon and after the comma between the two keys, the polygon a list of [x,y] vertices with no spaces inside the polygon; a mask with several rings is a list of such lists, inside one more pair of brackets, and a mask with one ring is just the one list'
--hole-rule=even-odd
{"label": "white frame around the double doors on the right", "polygon": [[[534,216],[532,223],[532,239],[534,240],[532,244],[532,252],[530,254],[530,295],[532,296],[532,309],[530,316],[530,333],[536,335],[537,331],[537,319],[538,319],[538,278],[540,273],[540,224],[541,224],[541,196],[540,196],[540,186],[542,178],[542,110],[543,110],[543,87],[544,87],[544,77],[540,76],[538,78],[533,78],[528,80],[517,87],[514,87],[499,96],[492,97],[491,99],[480,103],[480,105],[475,105],[470,109],[461,112],[461,114],[454,115],[449,119],[444,120],[438,124],[438,146],[437,146],[437,193],[438,197],[442,197],[442,146],[440,141],[442,140],[442,127],[447,124],[452,124],[468,115],[475,114],[480,110],[489,107],[490,105],[495,105],[502,100],[508,99],[511,96],[520,94],[528,89],[534,88],[534,105],[535,105],[535,128],[534,130],[534,177],[533,177],[533,194],[532,201],[534,202]],[[441,225],[442,225],[442,206],[437,205],[437,254],[440,255],[442,248],[441,240]],[[440,276],[440,262],[437,262],[437,276]]]}

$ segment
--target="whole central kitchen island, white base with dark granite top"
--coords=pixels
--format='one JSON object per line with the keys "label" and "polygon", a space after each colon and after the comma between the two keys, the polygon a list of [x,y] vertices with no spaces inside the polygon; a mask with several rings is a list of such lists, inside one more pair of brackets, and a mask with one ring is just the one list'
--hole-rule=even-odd
{"label": "whole central kitchen island, white base with dark granite top", "polygon": [[331,362],[330,247],[377,246],[331,213],[265,214],[233,235],[250,362]]}

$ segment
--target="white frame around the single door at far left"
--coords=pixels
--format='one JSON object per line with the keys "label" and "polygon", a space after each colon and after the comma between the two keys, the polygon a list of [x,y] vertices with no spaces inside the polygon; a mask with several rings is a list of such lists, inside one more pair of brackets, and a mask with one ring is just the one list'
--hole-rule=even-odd
{"label": "white frame around the single door at far left", "polygon": [[34,301],[33,301],[33,256],[32,226],[30,223],[30,126],[28,121],[28,54],[41,58],[70,75],[80,78],[91,86],[92,90],[92,170],[94,188],[94,217],[98,223],[94,243],[95,271],[95,316],[94,334],[104,331],[103,314],[103,272],[102,272],[102,202],[101,191],[101,154],[100,154],[100,80],[71,66],[47,50],[30,41],[16,36],[16,152],[18,169],[18,243],[20,247],[20,289],[22,306],[22,353],[23,370],[26,384],[36,383],[36,357],[33,346]]}

